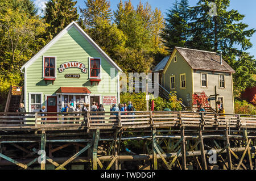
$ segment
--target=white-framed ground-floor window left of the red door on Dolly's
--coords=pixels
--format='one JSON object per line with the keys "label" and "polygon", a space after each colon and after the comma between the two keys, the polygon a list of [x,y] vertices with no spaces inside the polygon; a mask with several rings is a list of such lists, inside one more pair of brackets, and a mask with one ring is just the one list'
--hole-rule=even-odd
{"label": "white-framed ground-floor window left of the red door on Dolly's", "polygon": [[41,92],[30,92],[28,100],[29,112],[39,112],[42,107],[43,94]]}

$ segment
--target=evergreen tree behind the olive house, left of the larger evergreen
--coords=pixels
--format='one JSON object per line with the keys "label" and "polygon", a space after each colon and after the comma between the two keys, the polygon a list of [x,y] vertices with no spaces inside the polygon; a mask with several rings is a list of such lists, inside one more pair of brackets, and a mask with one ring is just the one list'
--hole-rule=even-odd
{"label": "evergreen tree behind the olive house, left of the larger evergreen", "polygon": [[168,50],[174,47],[185,47],[188,40],[188,1],[175,1],[171,10],[168,10],[165,28],[161,34]]}

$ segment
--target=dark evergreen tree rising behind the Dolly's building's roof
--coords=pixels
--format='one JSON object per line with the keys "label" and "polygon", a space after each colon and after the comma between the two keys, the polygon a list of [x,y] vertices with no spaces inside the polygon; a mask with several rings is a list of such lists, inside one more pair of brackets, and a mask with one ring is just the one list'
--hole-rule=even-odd
{"label": "dark evergreen tree rising behind the Dolly's building's roof", "polygon": [[50,0],[46,3],[46,15],[44,19],[50,26],[47,28],[49,39],[63,30],[69,23],[79,19],[76,1]]}

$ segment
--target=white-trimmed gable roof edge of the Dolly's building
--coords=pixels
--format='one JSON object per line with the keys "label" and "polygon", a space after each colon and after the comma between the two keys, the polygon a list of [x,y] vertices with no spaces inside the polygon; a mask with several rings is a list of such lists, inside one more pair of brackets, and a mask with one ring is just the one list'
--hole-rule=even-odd
{"label": "white-trimmed gable roof edge of the Dolly's building", "polygon": [[30,66],[34,61],[36,61],[44,52],[46,52],[57,40],[59,40],[65,33],[68,32],[72,27],[75,27],[77,31],[81,33],[81,35],[89,41],[89,43],[96,49],[98,52],[117,70],[122,71],[117,64],[82,30],[82,28],[76,23],[72,22],[67,27],[64,28],[57,36],[55,36],[44,48],[42,48],[38,53],[35,54],[29,61],[26,62],[22,66],[22,69]]}

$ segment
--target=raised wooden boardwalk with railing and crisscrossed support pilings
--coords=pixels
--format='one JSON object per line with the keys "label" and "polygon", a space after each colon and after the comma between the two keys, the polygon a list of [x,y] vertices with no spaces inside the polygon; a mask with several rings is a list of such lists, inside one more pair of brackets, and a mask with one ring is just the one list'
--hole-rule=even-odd
{"label": "raised wooden boardwalk with railing and crisscrossed support pilings", "polygon": [[[131,113],[0,112],[0,167],[32,169],[43,150],[54,169],[70,169],[75,162],[88,163],[92,169],[122,169],[126,161],[145,161],[151,169],[188,169],[188,162],[193,169],[212,169],[208,157],[215,150],[223,169],[255,169],[256,115]],[[141,151],[125,152],[127,140],[142,141]],[[10,154],[14,148],[20,153]],[[58,151],[65,148],[73,148],[75,154],[60,157]],[[40,168],[45,165],[40,163]]]}

